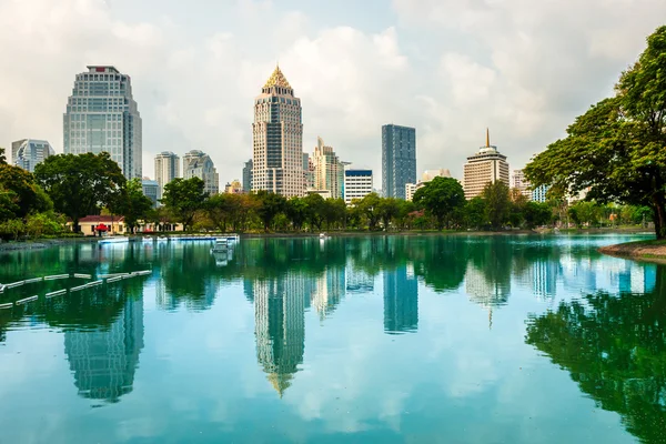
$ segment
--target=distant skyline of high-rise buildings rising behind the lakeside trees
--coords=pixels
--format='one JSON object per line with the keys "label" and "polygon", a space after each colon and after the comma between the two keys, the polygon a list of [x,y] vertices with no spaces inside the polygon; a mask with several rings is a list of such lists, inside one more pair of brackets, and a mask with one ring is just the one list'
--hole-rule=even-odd
{"label": "distant skyline of high-rise buildings rising behind the lakeside trees", "polygon": [[[269,191],[285,198],[320,194],[324,199],[355,199],[376,192],[381,196],[412,200],[415,192],[436,176],[451,178],[448,169],[425,171],[417,180],[416,129],[397,124],[381,128],[382,189],[374,189],[374,172],[341,160],[333,147],[317,138],[312,154],[303,151],[301,99],[281,71],[270,75],[254,99],[252,158],[240,174],[220,186],[215,165],[203,151],[181,157],[163,151],[154,159],[154,180],[143,175],[142,120],[133,99],[131,78],[112,65],[89,65],[78,73],[63,114],[65,154],[108,152],[128,179],[140,178],[144,194],[159,205],[164,186],[176,178],[199,178],[204,191],[250,193]],[[22,139],[11,144],[12,163],[34,171],[56,152],[46,140]],[[466,199],[478,196],[491,182],[503,181],[527,199],[544,202],[547,188],[532,189],[522,170],[509,174],[506,155],[491,144],[490,131],[477,152],[467,158],[461,180]]]}

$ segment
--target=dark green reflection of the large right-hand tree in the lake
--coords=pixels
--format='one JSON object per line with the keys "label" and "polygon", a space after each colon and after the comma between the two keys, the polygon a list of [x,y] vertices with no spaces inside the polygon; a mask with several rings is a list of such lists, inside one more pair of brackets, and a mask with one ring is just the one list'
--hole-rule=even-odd
{"label": "dark green reflection of the large right-hand tree in the lake", "polygon": [[666,431],[666,269],[654,290],[596,293],[528,320],[526,342],[646,443]]}

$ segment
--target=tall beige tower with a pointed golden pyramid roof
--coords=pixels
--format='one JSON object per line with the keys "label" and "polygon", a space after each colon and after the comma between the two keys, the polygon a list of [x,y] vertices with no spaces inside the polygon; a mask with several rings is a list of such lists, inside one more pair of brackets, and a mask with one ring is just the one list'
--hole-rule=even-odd
{"label": "tall beige tower with a pointed golden pyramid roof", "polygon": [[305,193],[301,111],[301,99],[276,67],[254,100],[253,191]]}

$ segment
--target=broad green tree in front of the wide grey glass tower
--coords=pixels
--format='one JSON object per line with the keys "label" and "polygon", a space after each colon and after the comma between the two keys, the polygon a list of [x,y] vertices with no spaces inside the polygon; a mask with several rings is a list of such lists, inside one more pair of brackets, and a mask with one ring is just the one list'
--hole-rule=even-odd
{"label": "broad green tree in front of the wide grey glass tower", "polygon": [[34,176],[56,211],[72,220],[74,231],[79,231],[79,219],[112,203],[125,183],[120,167],[107,152],[51,155],[36,167]]}

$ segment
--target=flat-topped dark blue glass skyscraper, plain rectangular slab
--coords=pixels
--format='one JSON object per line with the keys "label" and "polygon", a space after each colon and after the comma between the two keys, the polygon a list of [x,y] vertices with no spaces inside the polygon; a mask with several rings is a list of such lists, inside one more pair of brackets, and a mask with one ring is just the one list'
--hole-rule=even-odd
{"label": "flat-topped dark blue glass skyscraper, plain rectangular slab", "polygon": [[382,189],[386,198],[405,199],[405,184],[416,182],[416,130],[382,127]]}

